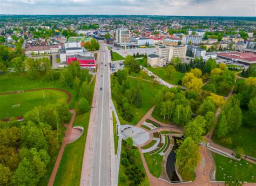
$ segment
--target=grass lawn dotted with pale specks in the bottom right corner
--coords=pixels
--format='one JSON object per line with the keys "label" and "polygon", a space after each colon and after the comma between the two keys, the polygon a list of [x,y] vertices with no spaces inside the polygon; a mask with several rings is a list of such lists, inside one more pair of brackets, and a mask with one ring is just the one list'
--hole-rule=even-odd
{"label": "grass lawn dotted with pale specks in the bottom right corner", "polygon": [[[226,181],[227,176],[233,175],[235,170],[235,165],[237,165],[239,169],[246,171],[244,181],[256,182],[256,178],[252,180],[252,177],[251,177],[252,175],[254,175],[254,177],[256,175],[255,164],[249,163],[245,160],[235,161],[235,160],[229,159],[228,157],[224,157],[215,153],[213,153],[213,159],[216,163],[216,180],[217,181]],[[226,174],[226,176],[224,174]]]}

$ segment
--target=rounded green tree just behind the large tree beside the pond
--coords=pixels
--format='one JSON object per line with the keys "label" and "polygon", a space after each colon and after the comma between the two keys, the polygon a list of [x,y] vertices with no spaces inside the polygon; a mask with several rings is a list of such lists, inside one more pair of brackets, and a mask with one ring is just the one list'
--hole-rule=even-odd
{"label": "rounded green tree just behind the large tree beside the pond", "polygon": [[184,128],[184,137],[191,137],[194,142],[199,143],[205,133],[205,122],[203,116],[197,116],[193,121],[188,122]]}

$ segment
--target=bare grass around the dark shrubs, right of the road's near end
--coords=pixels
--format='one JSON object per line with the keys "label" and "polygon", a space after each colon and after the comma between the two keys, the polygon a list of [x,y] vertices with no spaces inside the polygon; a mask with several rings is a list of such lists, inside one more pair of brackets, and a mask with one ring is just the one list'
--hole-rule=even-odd
{"label": "bare grass around the dark shrubs, right of the road's near end", "polygon": [[[145,169],[144,169],[144,166],[143,166],[143,162],[142,162],[142,159],[140,157],[140,153],[139,153],[139,150],[137,147],[133,147],[133,149],[131,149],[131,147],[127,147],[127,145],[125,145],[123,142],[122,142],[122,148],[121,148],[121,154],[125,153],[129,151],[131,153],[131,156],[133,157],[134,159],[134,163],[133,164],[130,164],[129,163],[129,166],[128,167],[125,167],[123,166],[122,163],[120,163],[120,167],[119,167],[119,176],[118,176],[118,185],[119,186],[129,186],[130,185],[130,180],[129,180],[129,176],[127,176],[125,174],[125,171],[129,168],[131,168],[132,166],[137,166],[138,169],[140,171],[142,171],[142,173],[145,174],[145,178],[144,180],[146,179],[147,180],[147,177],[146,177],[146,172],[145,172]],[[124,159],[122,156],[120,158],[120,162],[122,162],[122,159]],[[124,181],[122,182],[121,180]]]}

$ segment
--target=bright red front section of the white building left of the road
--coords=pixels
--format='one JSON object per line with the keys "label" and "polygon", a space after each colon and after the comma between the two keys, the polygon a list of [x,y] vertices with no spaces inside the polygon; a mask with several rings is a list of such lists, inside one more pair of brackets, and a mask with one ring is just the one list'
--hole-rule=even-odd
{"label": "bright red front section of the white building left of the road", "polygon": [[95,57],[92,56],[81,56],[75,54],[72,56],[66,56],[66,61],[70,64],[72,61],[78,61],[82,68],[96,68]]}

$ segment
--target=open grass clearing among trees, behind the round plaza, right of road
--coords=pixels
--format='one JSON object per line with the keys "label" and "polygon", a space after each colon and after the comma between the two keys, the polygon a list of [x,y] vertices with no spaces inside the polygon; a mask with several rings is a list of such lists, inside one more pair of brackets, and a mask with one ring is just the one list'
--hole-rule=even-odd
{"label": "open grass clearing among trees, behind the round plaza, right of road", "polygon": [[[130,86],[136,86],[137,79],[129,78],[127,77]],[[111,83],[113,83],[113,76],[111,77]],[[117,82],[115,82],[117,83]],[[150,108],[154,105],[154,97],[159,89],[161,89],[163,85],[156,84],[154,85],[153,82],[149,81],[143,81],[143,88],[141,89],[141,95],[142,95],[142,108],[137,108],[134,105],[130,105],[130,112],[133,115],[133,119],[131,122],[125,121],[120,116],[120,111],[118,111],[118,117],[120,120],[120,123],[122,125],[124,124],[131,124],[131,125],[137,125],[137,123],[143,118],[143,116],[150,110]],[[116,101],[114,102],[114,106],[117,108]]]}

